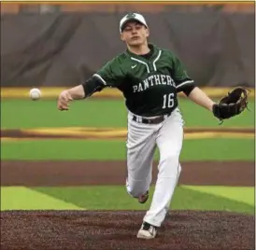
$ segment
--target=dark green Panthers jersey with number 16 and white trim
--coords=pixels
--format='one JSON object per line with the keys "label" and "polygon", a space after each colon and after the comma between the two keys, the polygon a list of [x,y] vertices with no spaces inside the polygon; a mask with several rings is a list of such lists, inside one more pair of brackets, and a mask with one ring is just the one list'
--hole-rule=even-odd
{"label": "dark green Panthers jersey with number 16 and white trim", "polygon": [[127,109],[142,117],[170,114],[178,106],[178,91],[193,82],[170,50],[149,47],[149,57],[127,49],[93,75],[121,90]]}

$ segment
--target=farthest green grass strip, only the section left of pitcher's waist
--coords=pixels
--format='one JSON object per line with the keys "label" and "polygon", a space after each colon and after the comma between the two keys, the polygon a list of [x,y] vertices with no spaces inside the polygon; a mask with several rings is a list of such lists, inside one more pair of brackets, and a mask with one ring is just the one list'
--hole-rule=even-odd
{"label": "farthest green grass strip, only the section left of pitcher's waist", "polygon": [[83,100],[69,111],[59,111],[54,100],[4,100],[1,126],[7,129],[36,127],[123,127],[126,113],[121,100]]}

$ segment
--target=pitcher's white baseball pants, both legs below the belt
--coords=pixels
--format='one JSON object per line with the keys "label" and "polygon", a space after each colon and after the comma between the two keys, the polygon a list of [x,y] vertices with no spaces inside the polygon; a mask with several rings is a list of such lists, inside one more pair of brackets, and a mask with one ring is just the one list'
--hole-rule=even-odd
{"label": "pitcher's white baseball pants, both legs below the belt", "polygon": [[176,108],[160,124],[143,124],[132,120],[128,113],[126,187],[137,198],[149,190],[152,180],[152,161],[156,146],[160,160],[155,190],[144,221],[160,227],[168,212],[181,171],[179,154],[183,142],[182,116]]}

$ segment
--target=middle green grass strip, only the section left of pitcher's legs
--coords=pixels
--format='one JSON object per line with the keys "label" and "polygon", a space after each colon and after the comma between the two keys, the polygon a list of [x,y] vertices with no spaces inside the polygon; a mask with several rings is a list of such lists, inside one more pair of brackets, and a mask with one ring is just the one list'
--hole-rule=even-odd
{"label": "middle green grass strip, only the section left of pitcher's legs", "polygon": [[125,143],[116,141],[4,142],[2,160],[123,160]]}

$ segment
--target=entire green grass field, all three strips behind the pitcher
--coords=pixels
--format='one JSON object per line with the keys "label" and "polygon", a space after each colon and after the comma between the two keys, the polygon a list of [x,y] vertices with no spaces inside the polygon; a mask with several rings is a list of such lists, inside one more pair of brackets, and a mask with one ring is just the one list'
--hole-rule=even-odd
{"label": "entire green grass field, all three strips behind the pitcher", "polygon": [[[226,120],[224,128],[254,128],[254,103],[239,117]],[[220,127],[208,111],[180,99],[186,127]],[[60,112],[55,100],[31,102],[5,99],[1,104],[2,129],[40,127],[126,127],[122,100],[91,99],[72,104]],[[182,161],[254,160],[253,139],[185,140]],[[120,140],[38,140],[1,142],[2,160],[125,160],[125,142]],[[156,152],[155,159],[158,159]],[[152,187],[153,188],[153,187]],[[1,210],[8,209],[148,209],[127,196],[124,187],[1,187]],[[19,198],[18,198],[19,197]],[[117,199],[118,197],[118,199]],[[151,199],[151,197],[150,197]],[[253,187],[177,188],[173,209],[225,210],[253,214]]]}

